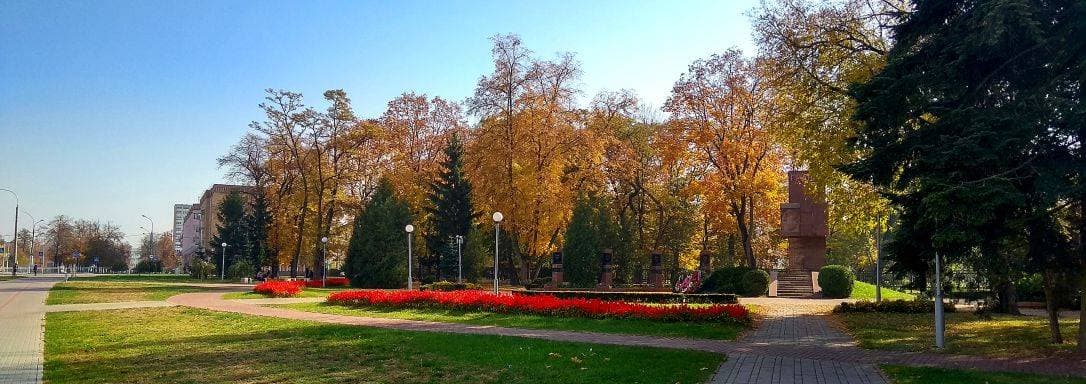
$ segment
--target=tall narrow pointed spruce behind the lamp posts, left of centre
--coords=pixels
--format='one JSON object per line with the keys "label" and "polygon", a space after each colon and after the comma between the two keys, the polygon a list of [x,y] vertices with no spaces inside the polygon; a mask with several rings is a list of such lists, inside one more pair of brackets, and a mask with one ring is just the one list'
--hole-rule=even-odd
{"label": "tall narrow pointed spruce behind the lamp posts, left of centre", "polygon": [[[437,258],[438,278],[451,279],[457,276],[456,236],[463,236],[463,248],[467,249],[472,223],[479,216],[471,202],[471,182],[464,177],[464,145],[455,133],[445,148],[441,169],[438,181],[430,184],[431,207],[427,208],[430,230],[426,235],[426,245],[430,255]],[[469,270],[475,269],[479,260],[464,261],[470,263],[471,266],[465,268]]]}

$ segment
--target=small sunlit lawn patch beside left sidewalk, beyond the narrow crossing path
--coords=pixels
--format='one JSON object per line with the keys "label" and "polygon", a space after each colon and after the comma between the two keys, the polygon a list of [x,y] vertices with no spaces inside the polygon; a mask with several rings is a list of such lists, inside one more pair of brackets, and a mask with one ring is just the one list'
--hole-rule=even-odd
{"label": "small sunlit lawn patch beside left sidewalk, beyond the narrow crossing path", "polygon": [[89,304],[164,300],[182,293],[201,292],[207,289],[161,283],[126,281],[73,280],[53,285],[46,304]]}

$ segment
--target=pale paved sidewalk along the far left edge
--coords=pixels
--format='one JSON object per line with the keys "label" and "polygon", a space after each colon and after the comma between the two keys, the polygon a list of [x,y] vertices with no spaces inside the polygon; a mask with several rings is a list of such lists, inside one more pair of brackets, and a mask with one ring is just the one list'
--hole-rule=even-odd
{"label": "pale paved sidewalk along the far left edge", "polygon": [[0,281],[0,384],[41,382],[46,296],[62,280]]}

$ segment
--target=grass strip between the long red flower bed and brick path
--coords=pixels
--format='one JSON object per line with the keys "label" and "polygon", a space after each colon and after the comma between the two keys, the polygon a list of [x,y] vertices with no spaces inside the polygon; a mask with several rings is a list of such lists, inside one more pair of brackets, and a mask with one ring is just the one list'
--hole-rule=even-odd
{"label": "grass strip between the long red flower bed and brick path", "polygon": [[392,318],[473,325],[498,325],[533,330],[626,333],[670,337],[735,340],[745,327],[734,323],[659,322],[637,319],[582,319],[532,315],[506,315],[443,309],[354,308],[324,303],[290,304],[282,307],[311,312]]}

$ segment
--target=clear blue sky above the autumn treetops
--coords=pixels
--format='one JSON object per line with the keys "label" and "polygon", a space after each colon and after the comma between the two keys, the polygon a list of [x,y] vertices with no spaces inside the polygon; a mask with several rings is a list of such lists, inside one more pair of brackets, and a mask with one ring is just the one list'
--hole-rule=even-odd
{"label": "clear blue sky above the autumn treetops", "polygon": [[[573,52],[581,90],[652,105],[693,60],[753,53],[732,1],[0,1],[0,188],[38,218],[64,214],[161,232],[174,203],[223,181],[215,165],[266,88],[312,104],[342,88],[376,117],[405,91],[462,101],[490,41]],[[0,194],[0,234],[14,202]],[[29,219],[20,218],[20,227]]]}

